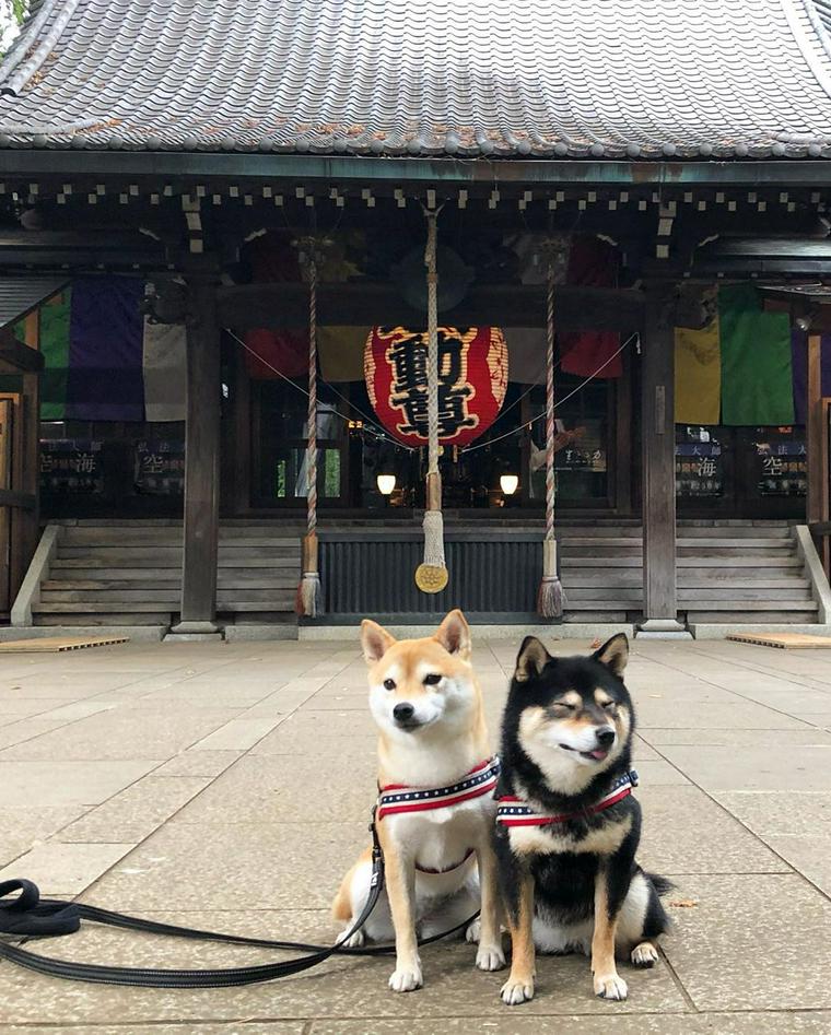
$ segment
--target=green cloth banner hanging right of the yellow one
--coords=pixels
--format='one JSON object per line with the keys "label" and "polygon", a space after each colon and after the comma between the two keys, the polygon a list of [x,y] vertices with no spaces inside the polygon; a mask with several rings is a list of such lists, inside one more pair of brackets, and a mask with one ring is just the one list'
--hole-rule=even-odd
{"label": "green cloth banner hanging right of the yellow one", "polygon": [[794,423],[791,320],[765,313],[751,284],[718,290],[722,423]]}

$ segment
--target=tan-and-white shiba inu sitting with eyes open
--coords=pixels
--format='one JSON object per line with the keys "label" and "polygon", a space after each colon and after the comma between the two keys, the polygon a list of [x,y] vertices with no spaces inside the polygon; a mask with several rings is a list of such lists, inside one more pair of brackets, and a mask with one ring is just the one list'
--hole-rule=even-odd
{"label": "tan-and-white shiba inu sitting with eyes open", "polygon": [[[395,934],[395,991],[422,985],[418,934],[447,930],[472,915],[477,966],[505,964],[492,847],[496,763],[491,758],[481,690],[470,664],[470,630],[452,611],[436,634],[396,640],[364,621],[370,708],[378,727],[378,838],[386,886],[362,930],[350,940]],[[367,849],[347,873],[332,913],[347,930],[370,890]]]}

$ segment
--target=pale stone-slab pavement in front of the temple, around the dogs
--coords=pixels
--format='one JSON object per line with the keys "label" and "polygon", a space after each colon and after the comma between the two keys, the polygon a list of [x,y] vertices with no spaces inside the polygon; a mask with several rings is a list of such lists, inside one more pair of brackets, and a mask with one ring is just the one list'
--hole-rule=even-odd
{"label": "pale stone-slab pavement in front of the temple, around the dogs", "polygon": [[[495,734],[517,637],[475,660]],[[554,649],[585,647],[574,642]],[[674,878],[660,965],[630,999],[592,995],[583,957],[543,957],[507,1008],[470,946],[243,989],[156,991],[0,964],[0,1032],[405,1035],[831,1031],[831,651],[635,643],[641,861]],[[328,941],[366,839],[374,737],[351,643],[125,645],[0,659],[0,879],[195,927]],[[273,958],[87,926],[42,951],[145,966]]]}

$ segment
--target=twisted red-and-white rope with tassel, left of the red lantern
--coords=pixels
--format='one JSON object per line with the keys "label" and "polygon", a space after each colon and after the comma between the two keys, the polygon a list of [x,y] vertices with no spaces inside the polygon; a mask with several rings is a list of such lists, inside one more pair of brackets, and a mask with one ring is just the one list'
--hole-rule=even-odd
{"label": "twisted red-and-white rope with tassel, left of the red lantern", "polygon": [[306,536],[303,540],[303,577],[295,611],[305,618],[323,614],[323,587],[317,544],[317,257],[315,243],[303,243],[301,263],[308,282],[308,416],[306,420]]}

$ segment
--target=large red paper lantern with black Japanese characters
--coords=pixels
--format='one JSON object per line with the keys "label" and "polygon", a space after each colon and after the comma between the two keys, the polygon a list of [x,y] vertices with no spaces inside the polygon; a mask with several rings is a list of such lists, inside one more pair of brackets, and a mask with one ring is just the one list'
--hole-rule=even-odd
{"label": "large red paper lantern with black Japanese characters", "polygon": [[[407,446],[428,444],[428,332],[374,327],[364,376],[375,413]],[[438,328],[438,442],[466,446],[493,424],[507,388],[507,345],[498,327]]]}

